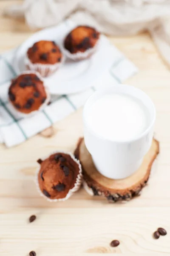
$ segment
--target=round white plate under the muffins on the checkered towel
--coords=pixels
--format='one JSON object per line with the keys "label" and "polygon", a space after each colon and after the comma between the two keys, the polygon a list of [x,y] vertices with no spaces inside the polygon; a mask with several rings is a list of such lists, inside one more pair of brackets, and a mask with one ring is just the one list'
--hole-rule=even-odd
{"label": "round white plate under the muffins on the checkered towel", "polygon": [[[60,46],[65,35],[76,26],[71,20],[59,24],[49,29],[35,33],[17,50],[14,58],[14,69],[17,74],[26,70],[24,59],[26,52],[36,41],[51,40]],[[102,73],[111,67],[113,57],[112,47],[105,36],[101,36],[98,49],[91,58],[82,61],[65,60],[65,63],[52,76],[45,78],[45,83],[50,93],[62,95],[78,93],[94,84],[95,79],[99,79]]]}

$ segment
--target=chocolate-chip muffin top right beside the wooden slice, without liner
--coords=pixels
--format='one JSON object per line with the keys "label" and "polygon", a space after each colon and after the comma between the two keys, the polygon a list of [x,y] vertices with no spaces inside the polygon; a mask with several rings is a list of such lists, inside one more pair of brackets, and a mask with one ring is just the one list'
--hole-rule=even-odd
{"label": "chocolate-chip muffin top right beside the wooden slice, without liner", "polygon": [[37,162],[41,165],[38,182],[42,193],[51,199],[65,198],[76,183],[78,164],[64,153],[52,154]]}

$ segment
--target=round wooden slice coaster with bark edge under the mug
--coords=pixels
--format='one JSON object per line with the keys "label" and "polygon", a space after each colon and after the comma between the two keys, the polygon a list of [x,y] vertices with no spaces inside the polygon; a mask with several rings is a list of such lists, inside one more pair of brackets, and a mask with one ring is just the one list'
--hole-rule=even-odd
{"label": "round wooden slice coaster with bark edge under the mug", "polygon": [[97,171],[83,138],[79,139],[75,151],[75,156],[82,164],[85,190],[92,195],[103,195],[114,202],[128,201],[139,195],[149,179],[150,170],[157,154],[159,154],[159,142],[154,139],[150,150],[144,156],[142,165],[133,175],[121,180],[112,180]]}

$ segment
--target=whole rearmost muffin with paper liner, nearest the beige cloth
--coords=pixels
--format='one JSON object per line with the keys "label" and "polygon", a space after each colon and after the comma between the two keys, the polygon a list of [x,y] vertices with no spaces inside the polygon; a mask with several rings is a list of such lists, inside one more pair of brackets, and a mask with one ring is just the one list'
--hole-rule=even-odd
{"label": "whole rearmost muffin with paper liner, nearest the beige cloth", "polygon": [[77,26],[64,40],[65,54],[74,60],[91,56],[96,50],[100,33],[90,26]]}

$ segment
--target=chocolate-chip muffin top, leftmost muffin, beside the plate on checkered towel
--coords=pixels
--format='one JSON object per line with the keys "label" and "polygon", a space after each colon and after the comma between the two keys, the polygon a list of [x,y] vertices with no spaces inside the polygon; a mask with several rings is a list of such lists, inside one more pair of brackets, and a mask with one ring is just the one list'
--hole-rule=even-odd
{"label": "chocolate-chip muffin top, leftmost muffin, beside the plate on checkered towel", "polygon": [[34,74],[22,74],[12,80],[8,90],[9,101],[17,111],[31,113],[47,99],[43,81]]}

